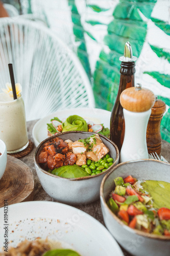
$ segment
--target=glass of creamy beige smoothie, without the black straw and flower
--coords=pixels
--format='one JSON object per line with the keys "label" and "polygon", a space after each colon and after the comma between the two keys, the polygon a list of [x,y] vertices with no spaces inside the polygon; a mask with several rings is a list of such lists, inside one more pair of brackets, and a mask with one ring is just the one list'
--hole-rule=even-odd
{"label": "glass of creamy beige smoothie, without the black straw and flower", "polygon": [[28,145],[25,106],[21,95],[13,99],[6,93],[0,93],[0,139],[7,152],[19,152]]}

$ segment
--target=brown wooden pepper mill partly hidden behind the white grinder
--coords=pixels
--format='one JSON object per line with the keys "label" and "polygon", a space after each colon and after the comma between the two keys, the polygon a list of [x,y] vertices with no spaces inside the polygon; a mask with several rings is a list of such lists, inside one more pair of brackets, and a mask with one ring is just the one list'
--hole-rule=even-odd
{"label": "brown wooden pepper mill partly hidden behind the white grinder", "polygon": [[147,127],[147,147],[149,154],[156,152],[159,155],[162,144],[160,123],[166,110],[166,104],[156,97],[155,104],[151,110],[152,112]]}

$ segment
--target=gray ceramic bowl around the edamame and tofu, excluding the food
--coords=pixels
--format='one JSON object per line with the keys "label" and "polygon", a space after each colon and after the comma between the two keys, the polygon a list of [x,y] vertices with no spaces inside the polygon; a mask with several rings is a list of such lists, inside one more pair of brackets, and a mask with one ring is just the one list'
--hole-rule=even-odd
{"label": "gray ceramic bowl around the edamame and tofu, excluding the food", "polygon": [[[71,139],[72,141],[76,141],[79,139],[85,139],[92,134],[94,133],[74,131],[61,133],[51,138],[59,137],[63,140]],[[38,155],[41,152],[44,143],[46,143],[50,138],[43,140],[38,145],[34,153],[34,163],[40,183],[48,195],[59,202],[72,205],[88,204],[100,198],[100,185],[102,179],[105,174],[118,163],[119,160],[117,146],[105,136],[100,135],[100,137],[103,143],[109,148],[110,156],[115,160],[113,165],[104,173],[74,179],[58,177],[43,170],[38,164]]]}

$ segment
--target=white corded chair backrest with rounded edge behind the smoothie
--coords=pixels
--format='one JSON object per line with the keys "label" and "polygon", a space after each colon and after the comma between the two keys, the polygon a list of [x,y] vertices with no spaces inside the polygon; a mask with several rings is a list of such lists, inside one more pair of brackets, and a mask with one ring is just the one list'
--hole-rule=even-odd
{"label": "white corded chair backrest with rounded edge behind the smoothie", "polygon": [[44,117],[59,109],[94,107],[89,79],[78,57],[53,32],[25,19],[0,19],[0,89],[22,86],[26,118]]}

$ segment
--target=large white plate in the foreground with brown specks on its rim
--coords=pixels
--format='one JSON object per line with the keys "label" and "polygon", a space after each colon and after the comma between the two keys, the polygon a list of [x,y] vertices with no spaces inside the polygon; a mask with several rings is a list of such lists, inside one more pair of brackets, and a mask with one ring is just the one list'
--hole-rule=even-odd
{"label": "large white plate in the foreground with brown specks on its rim", "polygon": [[[0,209],[0,248],[5,242],[4,207]],[[8,206],[8,238],[11,246],[37,237],[61,241],[81,256],[123,256],[117,242],[97,220],[75,207],[46,201]]]}

